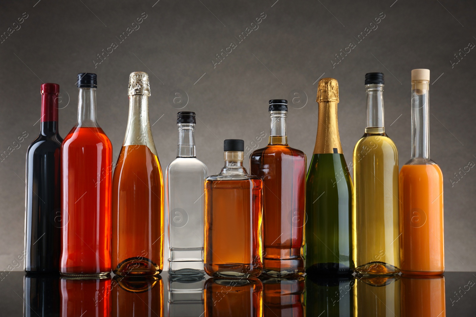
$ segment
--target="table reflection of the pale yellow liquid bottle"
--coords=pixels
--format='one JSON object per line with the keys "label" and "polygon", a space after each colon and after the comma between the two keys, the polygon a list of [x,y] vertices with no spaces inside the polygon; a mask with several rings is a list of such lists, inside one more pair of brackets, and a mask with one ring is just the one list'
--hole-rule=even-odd
{"label": "table reflection of the pale yellow liquid bottle", "polygon": [[400,277],[360,277],[356,280],[355,316],[400,317]]}

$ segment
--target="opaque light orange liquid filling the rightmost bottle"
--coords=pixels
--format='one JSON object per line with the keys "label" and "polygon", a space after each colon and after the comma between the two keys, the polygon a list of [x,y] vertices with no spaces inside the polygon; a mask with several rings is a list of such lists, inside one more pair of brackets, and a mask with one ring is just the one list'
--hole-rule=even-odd
{"label": "opaque light orange liquid filling the rightmost bottle", "polygon": [[443,273],[443,174],[439,166],[404,165],[399,196],[402,273]]}

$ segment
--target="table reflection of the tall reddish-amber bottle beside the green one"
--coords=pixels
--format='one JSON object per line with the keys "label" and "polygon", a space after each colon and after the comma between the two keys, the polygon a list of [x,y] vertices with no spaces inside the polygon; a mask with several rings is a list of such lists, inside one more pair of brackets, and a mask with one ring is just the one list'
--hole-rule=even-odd
{"label": "table reflection of the tall reddish-amber bottle beside the green one", "polygon": [[304,316],[304,278],[262,278],[264,317]]}

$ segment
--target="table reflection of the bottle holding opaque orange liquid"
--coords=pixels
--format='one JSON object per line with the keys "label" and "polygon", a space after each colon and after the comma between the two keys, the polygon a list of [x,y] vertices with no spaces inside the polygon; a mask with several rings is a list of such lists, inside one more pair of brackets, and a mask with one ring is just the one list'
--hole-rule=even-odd
{"label": "table reflection of the bottle holding opaque orange liquid", "polygon": [[402,317],[445,317],[443,275],[402,276]]}

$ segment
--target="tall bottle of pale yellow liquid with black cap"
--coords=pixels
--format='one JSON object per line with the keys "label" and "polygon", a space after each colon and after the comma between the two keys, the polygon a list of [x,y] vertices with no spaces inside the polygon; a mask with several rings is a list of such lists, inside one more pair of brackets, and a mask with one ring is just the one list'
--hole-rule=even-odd
{"label": "tall bottle of pale yellow liquid with black cap", "polygon": [[354,148],[353,231],[356,271],[400,271],[398,152],[384,127],[384,74],[365,75],[367,127]]}

